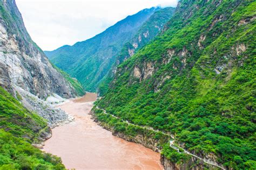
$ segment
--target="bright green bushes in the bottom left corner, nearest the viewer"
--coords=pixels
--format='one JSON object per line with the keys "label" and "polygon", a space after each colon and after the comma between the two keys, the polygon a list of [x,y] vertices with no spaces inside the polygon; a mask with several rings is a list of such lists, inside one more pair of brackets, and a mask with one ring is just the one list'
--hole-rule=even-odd
{"label": "bright green bushes in the bottom left corner, nearest the viewer", "polygon": [[65,169],[60,158],[0,129],[0,169]]}

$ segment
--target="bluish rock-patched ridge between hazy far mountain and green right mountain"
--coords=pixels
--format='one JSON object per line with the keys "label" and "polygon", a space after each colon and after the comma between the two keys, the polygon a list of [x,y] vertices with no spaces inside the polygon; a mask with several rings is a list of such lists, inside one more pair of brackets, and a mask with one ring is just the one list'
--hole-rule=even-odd
{"label": "bluish rock-patched ridge between hazy far mountain and green right mountain", "polygon": [[161,32],[166,22],[172,17],[174,10],[175,8],[169,7],[154,12],[150,18],[143,23],[135,36],[124,44],[121,51],[117,54],[116,62],[113,63],[109,73],[107,73],[99,83],[97,91],[100,95],[106,92],[116,72],[117,66],[156,37],[157,34]]}

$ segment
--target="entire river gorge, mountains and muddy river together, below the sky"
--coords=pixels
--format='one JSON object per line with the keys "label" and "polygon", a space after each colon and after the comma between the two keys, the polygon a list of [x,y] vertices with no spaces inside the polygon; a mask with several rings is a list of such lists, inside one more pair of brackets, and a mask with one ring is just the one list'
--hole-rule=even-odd
{"label": "entire river gorge, mountains and muddy river together, below the sky", "polygon": [[0,0],[0,170],[256,169],[255,7],[180,0],[43,51]]}

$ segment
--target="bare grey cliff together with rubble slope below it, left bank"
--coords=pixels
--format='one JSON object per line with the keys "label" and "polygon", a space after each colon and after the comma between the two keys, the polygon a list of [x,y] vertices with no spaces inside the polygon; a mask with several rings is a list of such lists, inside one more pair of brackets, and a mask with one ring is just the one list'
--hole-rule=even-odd
{"label": "bare grey cliff together with rubble slope below it, left bank", "polygon": [[[24,107],[46,119],[50,128],[73,119],[44,101],[52,95],[70,98],[77,93],[32,41],[14,0],[0,0],[0,86],[19,96]],[[38,140],[50,137],[45,127]]]}

